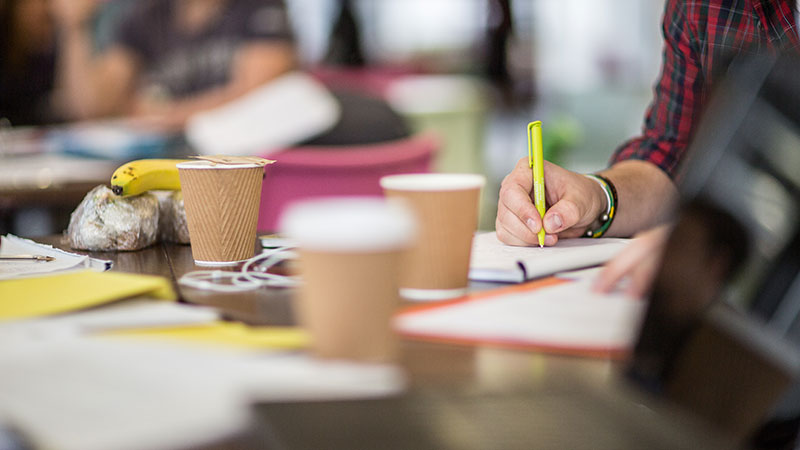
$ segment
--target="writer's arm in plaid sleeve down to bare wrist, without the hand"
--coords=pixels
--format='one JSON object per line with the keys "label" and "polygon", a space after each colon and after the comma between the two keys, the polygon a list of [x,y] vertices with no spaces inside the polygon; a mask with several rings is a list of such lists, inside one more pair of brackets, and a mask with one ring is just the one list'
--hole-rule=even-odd
{"label": "writer's arm in plaid sleeve down to bare wrist, without the hand", "polygon": [[602,173],[617,188],[619,209],[608,231],[630,236],[671,219],[678,171],[697,121],[705,80],[698,42],[685,3],[665,4],[662,72],[648,108],[643,133],[621,146]]}

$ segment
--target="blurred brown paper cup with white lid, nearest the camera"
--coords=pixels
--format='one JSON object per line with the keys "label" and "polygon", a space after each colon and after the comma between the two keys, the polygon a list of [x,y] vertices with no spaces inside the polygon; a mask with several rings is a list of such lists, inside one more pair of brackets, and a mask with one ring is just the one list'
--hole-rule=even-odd
{"label": "blurred brown paper cup with white lid, nearest the camera", "polygon": [[287,209],[281,230],[298,246],[303,278],[295,312],[317,356],[395,359],[391,318],[414,228],[406,208],[380,198],[310,200]]}

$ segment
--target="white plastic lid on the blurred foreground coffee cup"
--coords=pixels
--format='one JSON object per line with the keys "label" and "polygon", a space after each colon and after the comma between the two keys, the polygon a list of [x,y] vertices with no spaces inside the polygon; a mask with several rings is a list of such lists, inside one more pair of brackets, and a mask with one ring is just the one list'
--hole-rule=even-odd
{"label": "white plastic lid on the blurred foreground coffee cup", "polygon": [[402,203],[381,197],[326,197],[291,204],[280,230],[300,248],[337,252],[403,248],[416,221]]}

